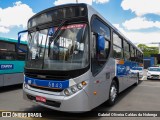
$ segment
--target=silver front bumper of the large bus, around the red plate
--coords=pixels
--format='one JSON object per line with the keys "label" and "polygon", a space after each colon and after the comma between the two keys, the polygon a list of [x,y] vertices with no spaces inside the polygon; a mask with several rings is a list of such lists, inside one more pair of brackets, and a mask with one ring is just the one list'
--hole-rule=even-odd
{"label": "silver front bumper of the large bus, around the red plate", "polygon": [[[46,99],[46,102],[38,102],[36,96]],[[91,108],[86,92],[82,89],[71,96],[56,96],[42,92],[33,91],[23,87],[23,98],[33,101],[41,106],[65,112],[87,112]]]}

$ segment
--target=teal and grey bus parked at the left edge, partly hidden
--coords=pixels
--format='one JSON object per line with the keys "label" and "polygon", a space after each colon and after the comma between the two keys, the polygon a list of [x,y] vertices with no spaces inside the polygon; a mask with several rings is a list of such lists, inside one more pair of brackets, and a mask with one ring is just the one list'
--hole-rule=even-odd
{"label": "teal and grey bus parked at the left edge, partly hidden", "polygon": [[[27,43],[20,46],[26,49]],[[25,53],[17,49],[17,40],[0,37],[0,87],[22,84]]]}

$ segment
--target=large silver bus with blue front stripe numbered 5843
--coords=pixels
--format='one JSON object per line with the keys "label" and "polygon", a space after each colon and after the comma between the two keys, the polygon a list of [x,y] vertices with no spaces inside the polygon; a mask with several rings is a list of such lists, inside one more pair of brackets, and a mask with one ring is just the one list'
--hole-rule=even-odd
{"label": "large silver bus with blue front stripe numbered 5843", "polygon": [[[86,112],[138,84],[143,53],[92,6],[66,4],[28,20],[23,97],[50,109]],[[18,40],[20,42],[20,39]]]}

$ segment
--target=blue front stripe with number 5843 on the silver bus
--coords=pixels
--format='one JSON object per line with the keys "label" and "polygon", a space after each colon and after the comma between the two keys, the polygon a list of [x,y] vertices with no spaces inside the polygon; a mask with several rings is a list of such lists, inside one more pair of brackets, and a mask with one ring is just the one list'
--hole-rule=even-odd
{"label": "blue front stripe with number 5843 on the silver bus", "polygon": [[33,86],[51,88],[51,89],[65,89],[69,87],[69,80],[41,80],[35,78],[25,77],[25,83]]}

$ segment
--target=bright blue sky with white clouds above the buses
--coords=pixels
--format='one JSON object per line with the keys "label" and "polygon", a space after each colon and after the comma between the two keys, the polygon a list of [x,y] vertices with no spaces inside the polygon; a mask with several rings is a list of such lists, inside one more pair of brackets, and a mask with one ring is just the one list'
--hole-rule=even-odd
{"label": "bright blue sky with white clouds above the buses", "polygon": [[[91,5],[135,44],[160,42],[160,0],[78,2]],[[66,3],[76,3],[76,0],[0,0],[0,37],[17,39],[17,33],[27,29],[27,21],[34,14]]]}

